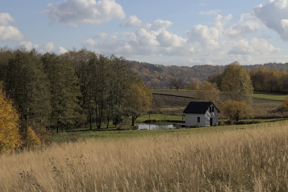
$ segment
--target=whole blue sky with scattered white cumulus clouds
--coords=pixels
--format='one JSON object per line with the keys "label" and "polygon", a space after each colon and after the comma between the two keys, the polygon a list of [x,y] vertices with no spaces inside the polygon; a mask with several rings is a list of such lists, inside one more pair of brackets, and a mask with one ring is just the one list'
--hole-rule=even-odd
{"label": "whole blue sky with scattered white cumulus clouds", "polygon": [[2,1],[6,45],[179,66],[286,63],[288,0]]}

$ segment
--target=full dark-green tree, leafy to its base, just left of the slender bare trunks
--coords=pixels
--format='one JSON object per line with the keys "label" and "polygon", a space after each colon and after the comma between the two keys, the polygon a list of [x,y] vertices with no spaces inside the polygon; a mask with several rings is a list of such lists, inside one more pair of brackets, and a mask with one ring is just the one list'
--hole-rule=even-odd
{"label": "full dark-green tree, leafy to its base, just left of the slender bare trunks", "polygon": [[43,63],[50,83],[50,125],[56,128],[58,133],[60,128],[70,128],[82,120],[77,99],[81,93],[74,69],[64,56],[46,53]]}

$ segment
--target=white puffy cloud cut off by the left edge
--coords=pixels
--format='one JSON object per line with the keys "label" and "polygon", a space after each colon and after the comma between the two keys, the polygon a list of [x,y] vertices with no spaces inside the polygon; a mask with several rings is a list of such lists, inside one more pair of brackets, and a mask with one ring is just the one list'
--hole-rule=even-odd
{"label": "white puffy cloud cut off by the left edge", "polygon": [[0,40],[23,40],[24,35],[17,27],[9,25],[15,22],[9,13],[0,13]]}

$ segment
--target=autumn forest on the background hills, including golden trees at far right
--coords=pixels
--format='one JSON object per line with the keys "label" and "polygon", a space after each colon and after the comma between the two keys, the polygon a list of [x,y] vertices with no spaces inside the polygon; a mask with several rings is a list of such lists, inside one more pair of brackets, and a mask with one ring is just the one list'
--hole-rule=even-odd
{"label": "autumn forest on the background hills, including golden trees at far right", "polygon": [[[225,65],[164,66],[137,61],[128,61],[137,76],[143,79],[149,89],[170,89],[171,79],[180,78],[183,88],[196,88],[208,79],[221,88],[221,74]],[[288,63],[266,63],[243,65],[248,70],[255,91],[282,92],[288,91]]]}

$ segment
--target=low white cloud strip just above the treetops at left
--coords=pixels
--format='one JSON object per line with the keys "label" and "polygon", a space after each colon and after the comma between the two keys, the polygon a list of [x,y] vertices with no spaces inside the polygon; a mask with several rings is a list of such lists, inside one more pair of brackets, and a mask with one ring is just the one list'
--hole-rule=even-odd
{"label": "low white cloud strip just above the treetops at left", "polygon": [[65,50],[64,47],[54,47],[54,44],[52,42],[48,42],[42,45],[37,45],[32,43],[31,41],[21,41],[15,49],[18,49],[21,46],[25,46],[28,50],[32,50],[33,48],[41,53],[46,52],[55,52],[56,54],[65,53],[67,50]]}

